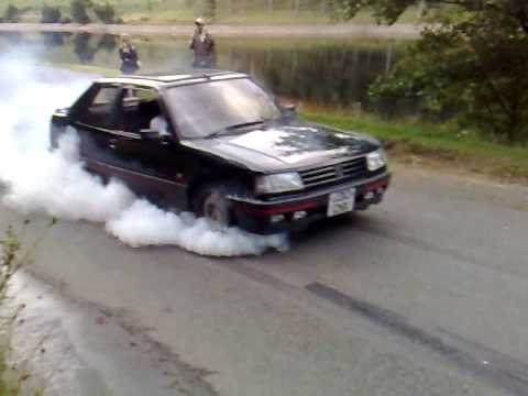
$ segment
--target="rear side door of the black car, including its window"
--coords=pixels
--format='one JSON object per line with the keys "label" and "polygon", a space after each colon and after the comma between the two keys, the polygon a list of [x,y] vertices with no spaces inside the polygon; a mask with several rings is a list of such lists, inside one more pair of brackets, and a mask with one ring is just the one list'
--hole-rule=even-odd
{"label": "rear side door of the black car, including its window", "polygon": [[98,85],[73,114],[72,124],[80,138],[79,153],[89,169],[103,176],[110,176],[109,166],[117,161],[112,140],[119,124],[120,95],[118,85]]}

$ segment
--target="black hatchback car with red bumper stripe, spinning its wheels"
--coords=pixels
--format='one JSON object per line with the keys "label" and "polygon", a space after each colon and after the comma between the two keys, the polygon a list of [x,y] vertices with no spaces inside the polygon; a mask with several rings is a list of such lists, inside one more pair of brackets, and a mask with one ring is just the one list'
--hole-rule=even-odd
{"label": "black hatchback car with red bumper stripe, spinning its wheels", "polygon": [[103,179],[255,233],[366,209],[389,184],[377,141],[301,122],[240,73],[103,78],[54,113],[52,147],[72,129]]}

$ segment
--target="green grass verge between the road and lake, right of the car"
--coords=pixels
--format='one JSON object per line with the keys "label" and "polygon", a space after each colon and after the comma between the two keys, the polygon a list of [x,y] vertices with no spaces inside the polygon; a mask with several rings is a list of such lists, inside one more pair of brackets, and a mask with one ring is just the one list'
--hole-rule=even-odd
{"label": "green grass verge between the road and lake, right of the car", "polygon": [[374,116],[307,112],[306,119],[342,130],[371,134],[403,162],[421,158],[427,165],[477,173],[528,185],[528,147],[506,146],[466,134],[452,125],[416,120],[387,121]]}

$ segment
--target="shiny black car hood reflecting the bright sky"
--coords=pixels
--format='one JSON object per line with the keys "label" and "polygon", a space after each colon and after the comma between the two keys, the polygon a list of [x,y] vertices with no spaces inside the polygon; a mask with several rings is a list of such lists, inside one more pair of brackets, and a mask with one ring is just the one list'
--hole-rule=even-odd
{"label": "shiny black car hood reflecting the bright sky", "polygon": [[271,125],[182,144],[262,173],[345,161],[380,147],[380,143],[364,135],[312,124]]}

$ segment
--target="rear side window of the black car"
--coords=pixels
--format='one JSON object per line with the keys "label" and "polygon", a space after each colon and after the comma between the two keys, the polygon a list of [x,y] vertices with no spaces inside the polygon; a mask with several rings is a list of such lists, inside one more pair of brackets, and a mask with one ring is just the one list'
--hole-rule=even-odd
{"label": "rear side window of the black car", "polygon": [[112,129],[116,127],[118,109],[117,99],[120,94],[119,87],[101,87],[92,97],[78,120],[90,127]]}

